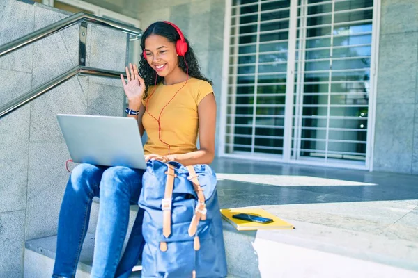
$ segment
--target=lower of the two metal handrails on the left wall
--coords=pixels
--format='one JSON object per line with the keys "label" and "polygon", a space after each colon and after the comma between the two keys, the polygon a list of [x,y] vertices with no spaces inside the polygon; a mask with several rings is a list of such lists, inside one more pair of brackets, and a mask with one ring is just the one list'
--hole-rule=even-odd
{"label": "lower of the two metal handrails on the left wall", "polygon": [[0,106],[0,118],[14,111],[20,106],[24,106],[24,104],[27,104],[29,101],[36,99],[37,97],[44,94],[45,92],[54,89],[58,85],[61,85],[68,79],[74,76],[77,76],[79,74],[119,79],[121,78],[121,74],[124,74],[124,73],[115,72],[113,70],[102,70],[102,69],[98,69],[95,67],[84,67],[81,65],[77,65],[73,67],[71,70],[68,70],[67,72],[64,72],[63,74],[61,74],[60,76],[57,76],[56,78],[52,79],[51,81],[48,81],[47,83],[44,83],[38,86],[37,88],[31,90],[30,92],[27,92],[26,94],[20,97],[17,97],[13,99],[12,101],[9,101],[7,104]]}

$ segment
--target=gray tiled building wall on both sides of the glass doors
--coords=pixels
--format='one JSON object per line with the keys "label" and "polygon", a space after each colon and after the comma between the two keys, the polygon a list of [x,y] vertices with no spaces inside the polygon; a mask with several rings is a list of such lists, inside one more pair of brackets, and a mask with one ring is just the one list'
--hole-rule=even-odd
{"label": "gray tiled building wall on both sides of the glass doors", "polygon": [[[137,18],[141,28],[156,20],[178,24],[214,81],[220,106],[224,1],[85,1]],[[418,174],[417,65],[418,1],[381,0],[374,171]],[[219,128],[217,142],[218,136]]]}

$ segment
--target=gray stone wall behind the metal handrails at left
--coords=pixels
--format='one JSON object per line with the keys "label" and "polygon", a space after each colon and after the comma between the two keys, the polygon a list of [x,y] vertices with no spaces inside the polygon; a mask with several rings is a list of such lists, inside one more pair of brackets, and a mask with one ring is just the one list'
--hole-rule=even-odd
{"label": "gray stone wall behind the metal handrails at left", "polygon": [[[0,1],[0,45],[68,17]],[[77,65],[79,26],[0,58],[0,105]],[[89,24],[86,65],[123,71],[126,35]],[[56,114],[123,115],[120,80],[77,76],[0,120],[0,277],[22,277],[24,242],[56,234],[70,158]]]}

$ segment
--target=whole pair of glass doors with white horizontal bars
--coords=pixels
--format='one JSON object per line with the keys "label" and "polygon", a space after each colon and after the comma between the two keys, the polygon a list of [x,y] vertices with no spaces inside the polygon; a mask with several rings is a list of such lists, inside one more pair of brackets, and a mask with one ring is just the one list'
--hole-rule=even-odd
{"label": "whole pair of glass doors with white horizontal bars", "polygon": [[374,1],[229,1],[222,155],[367,167]]}

